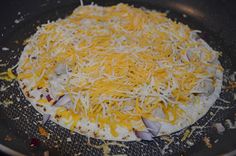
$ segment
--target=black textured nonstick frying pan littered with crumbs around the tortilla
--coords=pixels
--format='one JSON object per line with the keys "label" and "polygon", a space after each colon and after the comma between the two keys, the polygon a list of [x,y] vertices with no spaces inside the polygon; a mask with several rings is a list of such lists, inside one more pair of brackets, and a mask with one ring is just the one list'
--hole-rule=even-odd
{"label": "black textured nonstick frying pan littered with crumbs around the tortilla", "polygon": [[[90,4],[92,1],[84,1]],[[120,2],[157,11],[168,11],[168,17],[202,30],[201,37],[215,50],[221,51],[224,67],[224,88],[229,88],[236,63],[236,4],[223,0],[103,0],[95,4],[110,6]],[[23,41],[36,31],[36,27],[69,15],[80,5],[78,0],[9,0],[1,2],[0,72],[14,66],[23,49]],[[49,121],[41,124],[42,116],[25,99],[16,81],[0,81],[0,149],[11,155],[180,155],[201,150],[203,138],[217,138],[214,123],[234,119],[236,105],[233,88],[223,89],[209,112],[192,126],[154,141],[119,142],[109,144],[70,132]],[[50,137],[39,134],[42,126]],[[186,137],[186,131],[192,132]],[[236,136],[236,133],[230,134]],[[185,138],[185,139],[184,139]],[[233,139],[233,138],[232,138]],[[228,140],[226,140],[228,141]],[[94,145],[109,144],[109,150]],[[121,146],[122,144],[122,146]],[[235,142],[233,142],[235,144]],[[124,146],[123,146],[124,145]],[[100,146],[102,147],[102,146]],[[11,148],[12,150],[9,150]],[[214,147],[213,147],[214,148]],[[12,153],[13,152],[13,153]],[[14,153],[18,152],[18,153]],[[222,152],[222,150],[221,150]],[[209,153],[209,152],[208,152]],[[218,152],[219,154],[219,152]]]}

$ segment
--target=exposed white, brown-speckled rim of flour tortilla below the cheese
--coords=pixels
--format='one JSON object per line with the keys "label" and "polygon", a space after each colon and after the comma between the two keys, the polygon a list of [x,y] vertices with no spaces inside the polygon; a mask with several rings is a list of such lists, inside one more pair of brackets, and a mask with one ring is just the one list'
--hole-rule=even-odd
{"label": "exposed white, brown-speckled rim of flour tortilla below the cheese", "polygon": [[[17,68],[17,73],[24,72],[22,71],[21,67],[23,66],[26,58],[28,57],[28,54],[25,52],[32,48],[30,45],[26,45],[24,48],[24,51],[20,57],[19,60],[19,67]],[[220,65],[220,62],[217,61],[218,65]],[[210,109],[210,107],[214,104],[216,99],[219,97],[219,94],[221,92],[222,87],[222,80],[223,80],[223,72],[219,69],[216,71],[216,82],[215,82],[215,90],[210,96],[201,95],[200,96],[200,103],[193,103],[189,105],[182,105],[181,108],[185,111],[185,116],[182,116],[176,121],[176,124],[170,124],[167,122],[160,122],[161,123],[161,129],[160,133],[158,135],[166,135],[171,134],[173,132],[179,131],[194,122],[196,122],[198,119],[203,117],[207,111]],[[53,107],[51,105],[45,104],[44,107],[37,105],[37,100],[40,99],[40,95],[45,95],[45,88],[43,89],[33,89],[33,90],[27,90],[24,89],[25,86],[27,88],[30,88],[30,86],[34,85],[32,79],[22,79],[18,81],[20,84],[20,88],[22,88],[22,91],[27,98],[28,101],[32,104],[32,106],[41,114],[50,114],[53,122],[59,124],[60,126],[71,129],[71,124],[68,124],[68,119],[65,118],[56,118],[56,110],[57,107]],[[71,120],[71,119],[69,119]],[[78,128],[79,127],[79,128]],[[78,121],[77,128],[73,129],[73,131],[78,132],[80,134],[94,137],[98,139],[105,139],[105,140],[120,140],[120,141],[134,141],[134,140],[140,140],[140,138],[137,138],[135,133],[133,131],[129,131],[124,127],[117,127],[118,136],[115,137],[110,133],[110,128],[108,126],[105,126],[105,128],[101,129],[98,127],[97,124],[94,124],[86,119],[82,119]]]}

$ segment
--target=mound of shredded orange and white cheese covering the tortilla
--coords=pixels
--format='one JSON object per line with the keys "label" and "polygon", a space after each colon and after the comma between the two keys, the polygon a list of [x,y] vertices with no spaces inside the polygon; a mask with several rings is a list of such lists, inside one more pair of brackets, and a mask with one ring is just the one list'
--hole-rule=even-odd
{"label": "mound of shredded orange and white cheese covering the tortilla", "polygon": [[219,53],[197,33],[156,11],[80,6],[26,41],[17,78],[30,80],[25,90],[50,95],[39,105],[69,96],[70,107],[56,114],[72,119],[71,129],[81,119],[108,125],[113,136],[118,126],[144,129],[141,117],[175,124],[180,106],[199,100],[197,85],[206,78],[214,85],[212,71],[222,70],[212,63]]}

